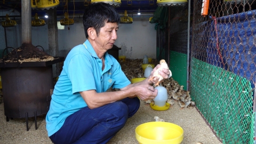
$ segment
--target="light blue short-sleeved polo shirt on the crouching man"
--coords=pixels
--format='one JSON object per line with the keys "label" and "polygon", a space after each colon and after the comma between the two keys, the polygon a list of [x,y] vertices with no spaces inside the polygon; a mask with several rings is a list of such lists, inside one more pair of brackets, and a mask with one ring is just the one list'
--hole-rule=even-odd
{"label": "light blue short-sleeved polo shirt on the crouching man", "polygon": [[69,115],[87,107],[79,92],[106,92],[111,86],[121,89],[131,83],[112,55],[106,52],[104,57],[105,69],[102,71],[102,60],[98,58],[88,40],[68,53],[54,86],[50,109],[46,115],[49,137],[61,128]]}

